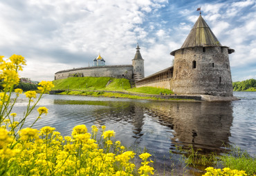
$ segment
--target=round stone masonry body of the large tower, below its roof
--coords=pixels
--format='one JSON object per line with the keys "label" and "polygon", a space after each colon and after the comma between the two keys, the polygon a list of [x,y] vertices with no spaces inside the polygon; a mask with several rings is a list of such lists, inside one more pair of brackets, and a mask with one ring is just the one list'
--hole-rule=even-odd
{"label": "round stone masonry body of the large tower, below its roof", "polygon": [[231,97],[228,48],[194,47],[177,50],[171,88],[178,94]]}

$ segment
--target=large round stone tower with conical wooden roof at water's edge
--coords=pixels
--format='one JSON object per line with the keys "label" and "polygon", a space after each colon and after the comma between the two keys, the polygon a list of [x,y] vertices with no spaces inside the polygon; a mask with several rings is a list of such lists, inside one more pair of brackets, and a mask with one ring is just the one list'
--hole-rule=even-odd
{"label": "large round stone tower with conical wooden roof at water's edge", "polygon": [[232,97],[228,54],[235,50],[221,46],[201,14],[183,46],[174,50],[171,88],[178,94]]}

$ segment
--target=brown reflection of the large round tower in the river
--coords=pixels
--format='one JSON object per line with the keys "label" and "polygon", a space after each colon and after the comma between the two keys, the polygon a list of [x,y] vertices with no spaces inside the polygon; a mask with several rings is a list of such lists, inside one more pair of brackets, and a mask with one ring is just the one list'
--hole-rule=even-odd
{"label": "brown reflection of the large round tower in the river", "polygon": [[174,130],[174,145],[216,150],[229,142],[233,118],[230,102],[163,102],[151,108],[161,124]]}

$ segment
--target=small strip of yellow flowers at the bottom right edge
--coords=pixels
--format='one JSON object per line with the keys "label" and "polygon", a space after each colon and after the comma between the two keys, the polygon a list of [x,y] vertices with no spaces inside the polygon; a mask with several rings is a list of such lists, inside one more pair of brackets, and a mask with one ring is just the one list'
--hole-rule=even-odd
{"label": "small strip of yellow flowers at the bottom right edge", "polygon": [[246,171],[244,170],[232,170],[230,168],[223,168],[222,170],[220,168],[212,168],[208,167],[205,168],[206,172],[203,176],[246,176]]}

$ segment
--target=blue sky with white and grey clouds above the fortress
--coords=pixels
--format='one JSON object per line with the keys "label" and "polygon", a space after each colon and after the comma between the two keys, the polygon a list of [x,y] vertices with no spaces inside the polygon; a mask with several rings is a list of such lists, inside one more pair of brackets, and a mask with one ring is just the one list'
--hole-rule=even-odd
{"label": "blue sky with white and grey clouds above the fortress", "polygon": [[100,55],[107,65],[131,64],[136,43],[145,76],[172,65],[202,17],[230,55],[232,81],[256,79],[256,0],[1,0],[0,55],[26,58],[21,77],[54,79]]}

